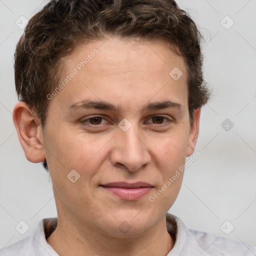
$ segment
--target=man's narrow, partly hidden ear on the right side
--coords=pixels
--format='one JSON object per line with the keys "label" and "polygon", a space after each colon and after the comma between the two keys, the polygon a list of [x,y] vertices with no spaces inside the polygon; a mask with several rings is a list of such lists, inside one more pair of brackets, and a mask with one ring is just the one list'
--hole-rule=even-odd
{"label": "man's narrow, partly hidden ear on the right side", "polygon": [[197,108],[194,110],[193,122],[190,125],[190,130],[189,130],[186,156],[190,156],[194,152],[194,147],[195,147],[198,133],[199,133],[200,112],[201,112],[201,108]]}

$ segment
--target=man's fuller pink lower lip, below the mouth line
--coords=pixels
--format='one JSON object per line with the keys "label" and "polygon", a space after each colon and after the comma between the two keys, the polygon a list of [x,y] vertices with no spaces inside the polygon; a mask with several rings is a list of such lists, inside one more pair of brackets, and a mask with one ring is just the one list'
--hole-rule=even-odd
{"label": "man's fuller pink lower lip, below the mouth line", "polygon": [[147,194],[152,187],[138,187],[138,188],[122,188],[113,186],[102,186],[109,192],[112,192],[125,200],[137,200]]}

